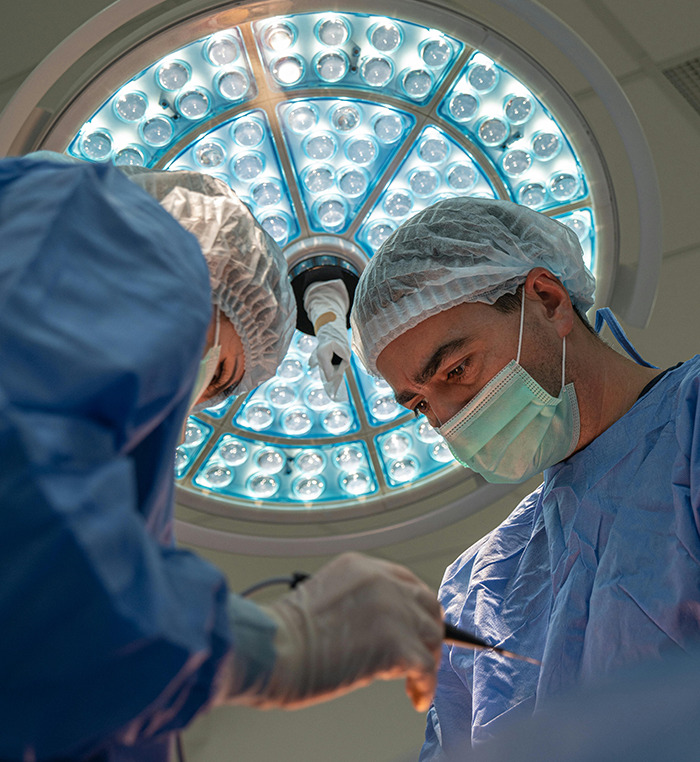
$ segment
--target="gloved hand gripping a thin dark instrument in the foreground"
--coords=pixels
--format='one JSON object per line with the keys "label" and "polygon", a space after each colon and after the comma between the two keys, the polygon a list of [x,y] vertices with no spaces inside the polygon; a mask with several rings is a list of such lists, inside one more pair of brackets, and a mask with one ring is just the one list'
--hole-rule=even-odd
{"label": "gloved hand gripping a thin dark instrument in the foreground", "polygon": [[408,569],[347,553],[261,608],[277,625],[272,673],[233,701],[298,708],[374,679],[406,677],[415,708],[430,706],[443,636],[441,609]]}

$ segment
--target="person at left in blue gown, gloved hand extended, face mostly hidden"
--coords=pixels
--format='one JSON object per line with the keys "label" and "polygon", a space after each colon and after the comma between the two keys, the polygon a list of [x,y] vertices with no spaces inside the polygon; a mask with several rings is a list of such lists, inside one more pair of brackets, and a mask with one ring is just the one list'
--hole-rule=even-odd
{"label": "person at left in blue gown, gloved hand extended, face mostly hidden", "polygon": [[270,377],[293,332],[247,208],[190,173],[7,159],[0,240],[0,759],[165,760],[209,707],[375,678],[427,708],[440,609],[408,570],[348,554],[260,607],[173,545],[191,405]]}

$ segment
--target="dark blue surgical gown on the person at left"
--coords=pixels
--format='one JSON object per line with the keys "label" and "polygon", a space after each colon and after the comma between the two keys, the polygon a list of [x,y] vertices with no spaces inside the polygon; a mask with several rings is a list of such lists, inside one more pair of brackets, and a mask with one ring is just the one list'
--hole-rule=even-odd
{"label": "dark blue surgical gown on the person at left", "polygon": [[0,241],[0,759],[160,760],[230,649],[172,532],[207,266],[109,166],[0,162]]}

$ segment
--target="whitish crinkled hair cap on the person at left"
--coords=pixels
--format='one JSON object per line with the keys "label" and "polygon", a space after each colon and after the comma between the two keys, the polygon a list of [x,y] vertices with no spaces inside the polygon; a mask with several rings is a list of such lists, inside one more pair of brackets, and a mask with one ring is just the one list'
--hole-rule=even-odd
{"label": "whitish crinkled hair cap on the person at left", "polygon": [[198,172],[128,168],[126,174],[199,241],[212,302],[243,344],[245,373],[236,393],[253,390],[275,374],[294,334],[296,302],[284,254],[220,180]]}

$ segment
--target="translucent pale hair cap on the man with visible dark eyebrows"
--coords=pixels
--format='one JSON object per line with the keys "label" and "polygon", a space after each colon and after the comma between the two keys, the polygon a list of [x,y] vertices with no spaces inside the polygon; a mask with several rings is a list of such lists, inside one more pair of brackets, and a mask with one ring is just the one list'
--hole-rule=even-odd
{"label": "translucent pale hair cap on the man with visible dark eyebrows", "polygon": [[593,304],[595,280],[565,225],[509,201],[438,201],[387,238],[362,273],[353,351],[377,373],[377,357],[398,336],[458,304],[515,293],[535,267],[556,275],[582,311]]}

